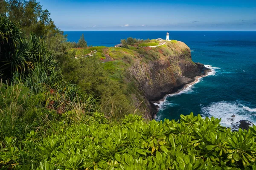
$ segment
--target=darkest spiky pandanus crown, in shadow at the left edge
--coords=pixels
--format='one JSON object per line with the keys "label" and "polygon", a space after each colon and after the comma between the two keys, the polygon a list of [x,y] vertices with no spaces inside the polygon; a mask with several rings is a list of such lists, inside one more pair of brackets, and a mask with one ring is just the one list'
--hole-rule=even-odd
{"label": "darkest spiky pandanus crown, in shadow at the left edge", "polygon": [[0,14],[0,78],[8,79],[15,71],[26,70],[29,66],[26,62],[29,53],[26,46],[17,24]]}

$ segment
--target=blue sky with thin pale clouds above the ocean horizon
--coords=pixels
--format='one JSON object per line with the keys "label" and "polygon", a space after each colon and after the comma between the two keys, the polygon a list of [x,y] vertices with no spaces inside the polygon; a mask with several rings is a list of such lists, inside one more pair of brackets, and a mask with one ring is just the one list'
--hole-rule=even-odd
{"label": "blue sky with thin pale clouds above the ocean horizon", "polygon": [[63,31],[256,31],[256,0],[39,0]]}

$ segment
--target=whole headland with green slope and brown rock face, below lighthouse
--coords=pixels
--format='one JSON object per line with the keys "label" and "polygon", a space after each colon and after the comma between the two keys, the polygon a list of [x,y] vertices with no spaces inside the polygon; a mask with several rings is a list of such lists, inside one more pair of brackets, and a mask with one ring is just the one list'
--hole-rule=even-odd
{"label": "whole headland with green slope and brown rock face, below lighthouse", "polygon": [[[83,58],[91,51],[95,51],[95,56],[101,58],[103,63],[94,68],[92,63],[85,75],[93,74],[90,71],[99,67],[106,72],[92,84],[93,88],[99,89],[100,96],[107,99],[102,99],[102,103],[106,104],[102,108],[109,108],[102,111],[107,115],[112,114],[113,108],[118,108],[115,109],[118,110],[116,114],[137,113],[152,119],[156,110],[151,101],[162,99],[204,74],[204,65],[193,62],[189,47],[176,40],[166,41],[155,48],[133,45],[127,48],[100,46],[76,49],[76,57],[81,55]],[[81,70],[87,70],[82,67]],[[104,84],[104,79],[109,79],[109,82]],[[89,82],[90,79],[87,79],[86,83]]]}

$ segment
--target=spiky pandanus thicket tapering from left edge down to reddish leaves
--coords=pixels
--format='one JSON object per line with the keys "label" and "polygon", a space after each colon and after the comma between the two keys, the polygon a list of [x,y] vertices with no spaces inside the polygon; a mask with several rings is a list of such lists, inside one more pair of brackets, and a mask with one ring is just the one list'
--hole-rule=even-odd
{"label": "spiky pandanus thicket tapering from left edge down to reddish leaves", "polygon": [[33,33],[25,37],[18,25],[2,14],[0,46],[0,79],[23,83],[35,94],[46,93],[46,104],[59,113],[72,102],[90,99],[92,105],[95,103],[91,96],[79,91],[77,85],[64,81],[44,40]]}

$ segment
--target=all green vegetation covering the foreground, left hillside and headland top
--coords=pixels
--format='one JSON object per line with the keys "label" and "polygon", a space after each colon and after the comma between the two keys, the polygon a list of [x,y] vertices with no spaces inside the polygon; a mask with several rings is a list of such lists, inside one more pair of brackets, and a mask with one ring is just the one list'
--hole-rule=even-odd
{"label": "all green vegetation covering the foreground, left hillside and headland top", "polygon": [[[179,74],[181,42],[87,48],[83,35],[67,42],[35,0],[2,0],[0,11],[0,169],[256,170],[256,126],[232,132],[213,117],[138,115],[146,105],[134,105],[142,92],[128,69],[173,55]],[[105,54],[113,61],[100,62]]]}

